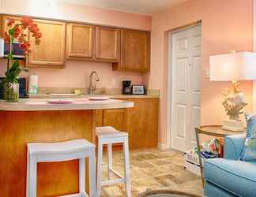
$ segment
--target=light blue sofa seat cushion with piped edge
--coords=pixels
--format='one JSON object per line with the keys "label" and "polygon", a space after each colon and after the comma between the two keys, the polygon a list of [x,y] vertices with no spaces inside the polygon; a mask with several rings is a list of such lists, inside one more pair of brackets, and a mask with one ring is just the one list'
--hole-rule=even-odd
{"label": "light blue sofa seat cushion with piped edge", "polygon": [[255,196],[256,163],[224,158],[207,159],[204,165],[206,181],[234,195]]}

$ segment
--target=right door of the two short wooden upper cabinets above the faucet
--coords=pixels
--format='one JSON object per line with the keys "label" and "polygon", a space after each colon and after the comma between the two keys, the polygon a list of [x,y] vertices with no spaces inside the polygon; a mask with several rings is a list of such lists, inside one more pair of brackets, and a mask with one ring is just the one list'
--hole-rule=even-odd
{"label": "right door of the two short wooden upper cabinets above the faucet", "polygon": [[96,58],[117,62],[120,59],[120,29],[96,27]]}

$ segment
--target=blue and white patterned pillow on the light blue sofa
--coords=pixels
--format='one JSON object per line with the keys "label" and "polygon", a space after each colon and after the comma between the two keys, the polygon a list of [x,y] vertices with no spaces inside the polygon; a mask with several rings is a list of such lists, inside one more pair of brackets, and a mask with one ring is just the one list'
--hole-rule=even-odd
{"label": "blue and white patterned pillow on the light blue sofa", "polygon": [[256,160],[256,115],[246,113],[245,117],[247,120],[247,139],[239,159],[250,162]]}

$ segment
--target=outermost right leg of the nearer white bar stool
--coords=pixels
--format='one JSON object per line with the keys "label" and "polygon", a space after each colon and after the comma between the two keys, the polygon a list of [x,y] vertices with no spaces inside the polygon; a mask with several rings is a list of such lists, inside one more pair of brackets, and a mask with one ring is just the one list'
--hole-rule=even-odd
{"label": "outermost right leg of the nearer white bar stool", "polygon": [[95,173],[95,152],[89,155],[89,194],[90,197],[96,196],[96,173]]}

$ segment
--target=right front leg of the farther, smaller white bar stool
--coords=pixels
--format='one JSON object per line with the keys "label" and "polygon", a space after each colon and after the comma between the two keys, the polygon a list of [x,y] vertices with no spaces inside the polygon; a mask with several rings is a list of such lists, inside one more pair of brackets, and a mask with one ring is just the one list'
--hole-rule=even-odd
{"label": "right front leg of the farther, smaller white bar stool", "polygon": [[124,166],[125,166],[125,180],[126,180],[126,194],[127,197],[131,197],[130,191],[130,160],[129,160],[129,145],[128,145],[128,137],[126,137],[122,150],[124,154]]}

